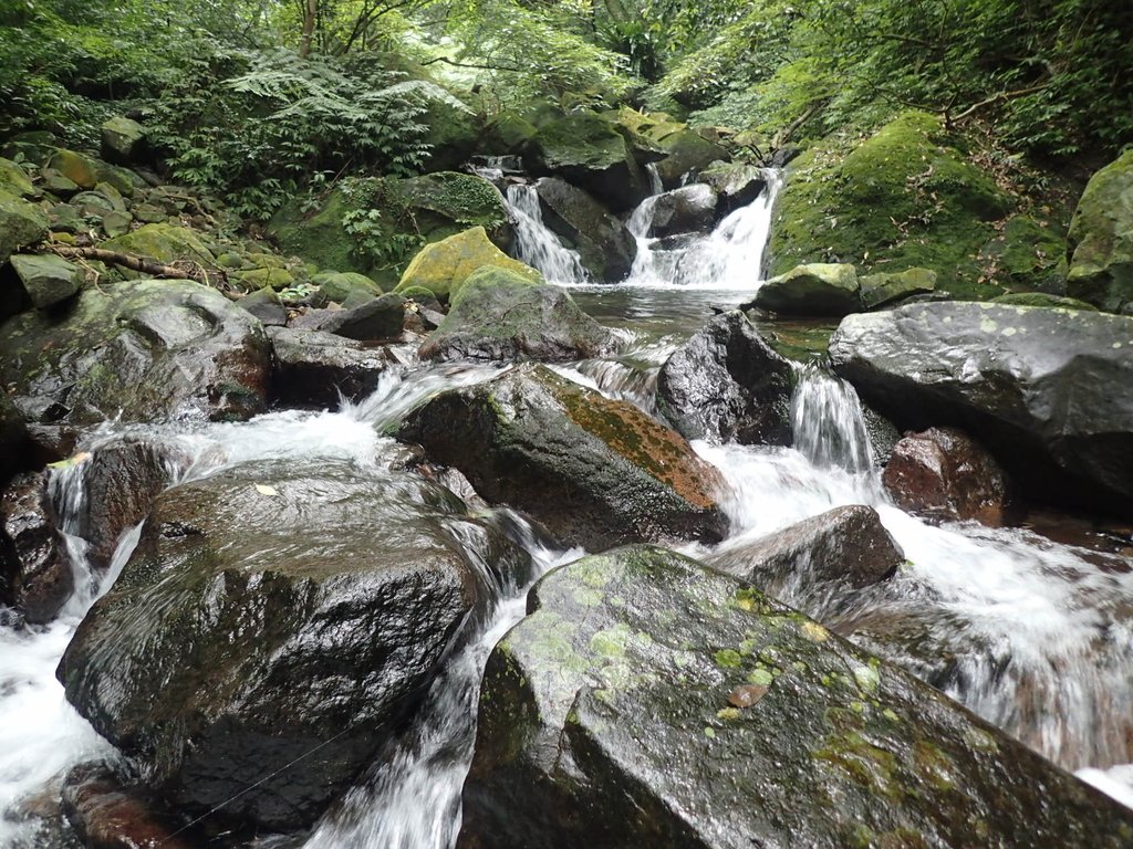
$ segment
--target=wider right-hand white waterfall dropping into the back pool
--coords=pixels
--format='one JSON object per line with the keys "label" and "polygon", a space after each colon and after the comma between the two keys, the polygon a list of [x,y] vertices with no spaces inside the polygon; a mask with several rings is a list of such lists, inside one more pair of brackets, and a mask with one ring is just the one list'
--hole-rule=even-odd
{"label": "wider right-hand white waterfall dropping into the back pool", "polygon": [[625,222],[637,240],[637,257],[627,283],[639,286],[743,289],[763,281],[764,254],[770,235],[775,199],[783,186],[776,169],[761,171],[763,192],[724,217],[707,238],[683,243],[649,237],[657,197],[642,200]]}

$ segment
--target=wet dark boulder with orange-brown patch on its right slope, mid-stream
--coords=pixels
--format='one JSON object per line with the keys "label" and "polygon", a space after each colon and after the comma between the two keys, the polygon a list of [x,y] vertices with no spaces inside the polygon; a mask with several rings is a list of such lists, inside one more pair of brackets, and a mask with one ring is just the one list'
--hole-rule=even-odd
{"label": "wet dark boulder with orange-brown patch on its right slope, mid-stream", "polygon": [[444,392],[411,413],[400,435],[568,544],[718,541],[725,531],[719,477],[688,443],[637,406],[544,366]]}

